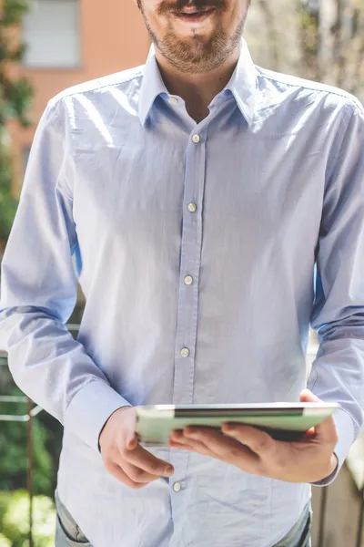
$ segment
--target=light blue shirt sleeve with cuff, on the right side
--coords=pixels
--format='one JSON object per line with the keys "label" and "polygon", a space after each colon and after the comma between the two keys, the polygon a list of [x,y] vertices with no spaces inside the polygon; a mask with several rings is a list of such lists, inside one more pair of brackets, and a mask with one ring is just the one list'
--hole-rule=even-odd
{"label": "light blue shirt sleeve with cuff, on the right side", "polygon": [[337,470],[316,483],[334,480],[363,424],[364,408],[364,113],[348,107],[327,186],[317,249],[316,296],[311,325],[319,352],[308,387],[340,408]]}

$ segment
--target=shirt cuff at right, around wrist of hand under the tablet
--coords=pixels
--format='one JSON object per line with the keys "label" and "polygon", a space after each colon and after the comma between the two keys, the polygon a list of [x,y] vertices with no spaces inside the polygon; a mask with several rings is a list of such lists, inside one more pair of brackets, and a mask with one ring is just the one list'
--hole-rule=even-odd
{"label": "shirt cuff at right, around wrist of hand under the tablet", "polygon": [[355,440],[354,422],[352,418],[350,418],[348,412],[342,408],[338,408],[334,414],[334,420],[339,436],[338,443],[334,449],[334,453],[338,458],[338,467],[329,475],[329,477],[319,480],[318,482],[312,482],[313,486],[328,486],[338,477],[344,461],[347,459],[350,447]]}

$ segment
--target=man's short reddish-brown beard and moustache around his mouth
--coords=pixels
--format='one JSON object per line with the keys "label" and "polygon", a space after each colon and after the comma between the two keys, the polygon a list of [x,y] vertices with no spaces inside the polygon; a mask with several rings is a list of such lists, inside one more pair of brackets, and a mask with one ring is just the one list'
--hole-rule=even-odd
{"label": "man's short reddish-brown beard and moustache around his mouth", "polygon": [[[223,65],[239,45],[248,15],[247,8],[246,13],[238,22],[233,36],[228,36],[222,23],[218,22],[213,34],[208,39],[195,33],[187,40],[183,40],[176,36],[171,22],[168,23],[165,35],[158,37],[147,19],[142,0],[137,0],[137,5],[144,16],[152,42],[157,46],[163,57],[180,72],[189,74],[208,72]],[[187,5],[191,5],[189,0],[177,0],[173,5],[163,2],[157,8],[157,15],[178,13]],[[194,0],[192,5],[197,10],[205,6],[214,7],[217,15],[218,12],[221,13],[226,9],[225,0]]]}

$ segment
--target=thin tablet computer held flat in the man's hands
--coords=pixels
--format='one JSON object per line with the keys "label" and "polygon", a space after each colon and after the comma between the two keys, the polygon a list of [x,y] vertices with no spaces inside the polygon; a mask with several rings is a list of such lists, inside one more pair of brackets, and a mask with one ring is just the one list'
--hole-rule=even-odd
{"label": "thin tablet computer held flat in the man's hands", "polygon": [[264,403],[238,405],[156,405],[136,407],[136,435],[144,446],[166,447],[174,429],[221,428],[238,422],[268,431],[280,440],[295,440],[339,408],[337,403]]}

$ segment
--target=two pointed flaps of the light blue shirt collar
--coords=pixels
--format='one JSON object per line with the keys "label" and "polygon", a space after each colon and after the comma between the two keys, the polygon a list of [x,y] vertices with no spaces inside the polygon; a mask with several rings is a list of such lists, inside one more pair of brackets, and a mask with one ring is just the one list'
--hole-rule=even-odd
{"label": "two pointed flaps of the light blue shirt collar", "polygon": [[[241,114],[247,120],[250,127],[254,119],[256,107],[257,73],[245,40],[242,41],[241,54],[233,76],[220,95],[224,94],[227,90],[235,98]],[[168,91],[157,66],[155,48],[151,46],[144,69],[139,97],[138,114],[143,126],[156,98],[161,94],[168,95]]]}

